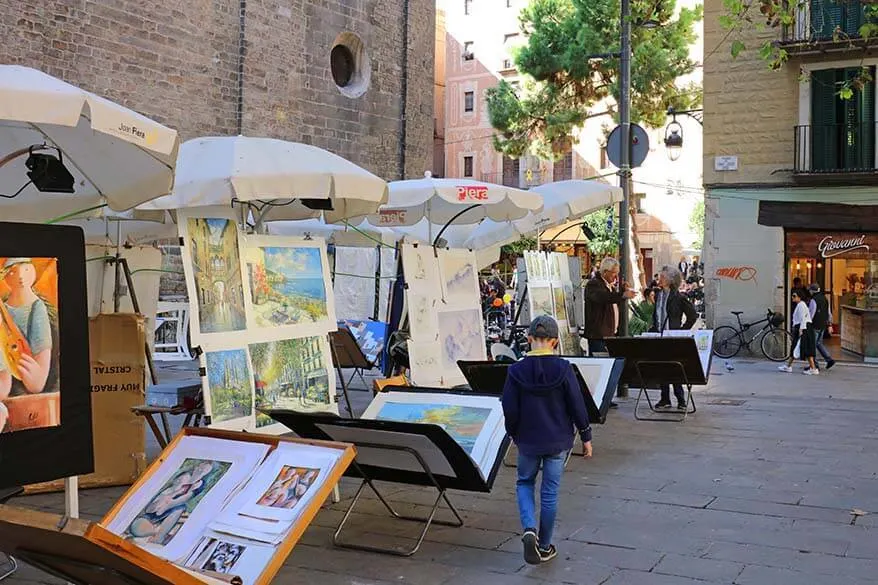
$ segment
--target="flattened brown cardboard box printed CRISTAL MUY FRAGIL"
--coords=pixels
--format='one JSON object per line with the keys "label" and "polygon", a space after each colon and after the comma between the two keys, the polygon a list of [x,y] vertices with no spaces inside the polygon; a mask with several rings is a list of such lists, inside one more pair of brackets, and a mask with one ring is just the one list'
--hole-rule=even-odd
{"label": "flattened brown cardboard box printed CRISTAL MUY FRAGIL", "polygon": [[[79,485],[130,485],[146,467],[145,421],[131,409],[145,402],[145,319],[106,313],[89,320],[95,472]],[[63,480],[27,486],[27,493],[61,491]]]}

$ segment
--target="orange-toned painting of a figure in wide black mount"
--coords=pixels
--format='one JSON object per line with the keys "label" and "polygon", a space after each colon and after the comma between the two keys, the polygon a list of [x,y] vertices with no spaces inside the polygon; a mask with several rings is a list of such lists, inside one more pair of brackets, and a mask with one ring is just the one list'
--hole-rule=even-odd
{"label": "orange-toned painting of a figure in wide black mount", "polygon": [[91,473],[83,231],[0,225],[0,487]]}

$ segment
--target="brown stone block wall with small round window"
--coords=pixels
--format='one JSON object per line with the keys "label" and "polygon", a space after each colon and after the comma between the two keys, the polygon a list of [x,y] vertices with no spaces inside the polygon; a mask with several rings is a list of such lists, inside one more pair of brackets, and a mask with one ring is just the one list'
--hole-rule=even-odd
{"label": "brown stone block wall with small round window", "polygon": [[[388,179],[432,166],[432,0],[9,0],[0,63],[197,136],[330,150]],[[341,89],[333,48],[355,71]],[[344,61],[345,55],[338,55]]]}

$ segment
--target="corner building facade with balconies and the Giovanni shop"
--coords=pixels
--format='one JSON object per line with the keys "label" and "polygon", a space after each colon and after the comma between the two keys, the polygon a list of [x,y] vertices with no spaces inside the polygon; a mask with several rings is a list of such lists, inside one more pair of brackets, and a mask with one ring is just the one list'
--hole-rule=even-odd
{"label": "corner building facade with balconies and the Giovanni shop", "polygon": [[[862,359],[842,349],[856,349],[851,336],[865,328],[846,326],[862,319],[845,306],[878,308],[878,58],[875,41],[859,38],[865,4],[812,0],[790,26],[745,27],[737,59],[722,0],[705,2],[704,23],[708,322],[733,323],[731,311],[788,316],[800,279],[826,291],[840,325],[832,351],[849,359]],[[758,56],[766,42],[790,55],[777,71]],[[833,248],[846,242],[860,245]]]}

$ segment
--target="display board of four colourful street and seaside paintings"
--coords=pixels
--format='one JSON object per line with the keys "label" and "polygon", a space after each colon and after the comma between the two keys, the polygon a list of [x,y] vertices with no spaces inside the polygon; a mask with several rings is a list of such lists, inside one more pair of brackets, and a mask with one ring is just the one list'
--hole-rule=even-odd
{"label": "display board of four colourful street and seaside paintings", "polygon": [[178,218],[210,426],[283,433],[258,410],[337,414],[325,242],[244,235],[225,208],[180,210]]}

